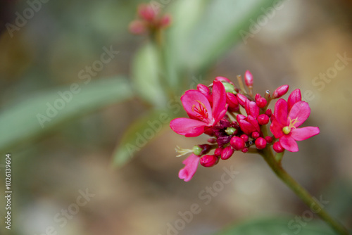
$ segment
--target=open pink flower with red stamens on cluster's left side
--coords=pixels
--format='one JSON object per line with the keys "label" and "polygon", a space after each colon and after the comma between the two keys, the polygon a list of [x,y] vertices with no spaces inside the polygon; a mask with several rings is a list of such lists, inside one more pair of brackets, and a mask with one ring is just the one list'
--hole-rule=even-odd
{"label": "open pink flower with red stamens on cluster's left side", "polygon": [[227,111],[225,88],[221,82],[213,82],[213,108],[207,97],[197,90],[189,90],[181,97],[189,118],[176,118],[170,122],[171,129],[186,137],[199,136],[205,127],[213,127]]}

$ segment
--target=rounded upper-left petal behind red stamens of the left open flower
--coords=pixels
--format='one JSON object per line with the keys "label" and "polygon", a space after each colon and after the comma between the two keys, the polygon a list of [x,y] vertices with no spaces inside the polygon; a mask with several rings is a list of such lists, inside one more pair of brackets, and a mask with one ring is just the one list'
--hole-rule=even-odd
{"label": "rounded upper-left petal behind red stamens of the left open flower", "polygon": [[[211,113],[211,106],[206,99],[206,96],[204,96],[201,91],[197,90],[188,90],[184,93],[183,96],[181,96],[181,101],[182,105],[184,107],[184,110],[186,110],[187,114],[189,115],[189,118],[195,119],[195,120],[202,120],[201,117],[203,118],[203,122],[210,123],[213,120],[213,114]],[[197,110],[202,110],[203,113],[197,112]],[[206,115],[208,117],[206,118]]]}

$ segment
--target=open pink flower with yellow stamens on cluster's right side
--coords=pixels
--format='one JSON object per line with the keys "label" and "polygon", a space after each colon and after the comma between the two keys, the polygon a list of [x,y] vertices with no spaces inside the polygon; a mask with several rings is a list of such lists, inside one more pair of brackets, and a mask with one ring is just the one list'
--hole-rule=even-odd
{"label": "open pink flower with yellow stamens on cluster's right side", "polygon": [[318,127],[302,127],[298,128],[307,120],[310,115],[308,103],[301,100],[301,92],[295,90],[289,97],[289,105],[284,99],[279,99],[275,103],[274,114],[272,115],[272,123],[270,130],[283,148],[290,152],[297,152],[298,145],[296,141],[308,139],[319,134]]}

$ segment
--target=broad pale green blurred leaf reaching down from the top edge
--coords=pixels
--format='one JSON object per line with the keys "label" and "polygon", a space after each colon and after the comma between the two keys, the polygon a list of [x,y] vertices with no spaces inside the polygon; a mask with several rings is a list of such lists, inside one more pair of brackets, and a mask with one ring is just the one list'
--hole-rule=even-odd
{"label": "broad pale green blurred leaf reaching down from the top edge", "polygon": [[[192,15],[192,19],[198,22],[196,24],[192,22],[194,27],[191,30],[184,27],[184,30],[178,29],[179,31],[174,33],[174,35],[184,34],[186,37],[181,40],[182,45],[179,45],[176,51],[182,67],[196,71],[214,63],[219,56],[242,39],[241,33],[242,35],[245,34],[244,32],[251,33],[249,30],[251,20],[256,22],[258,16],[265,16],[262,8],[266,9],[274,2],[274,0],[209,1],[201,17],[199,17],[199,11],[195,11],[197,18]],[[187,1],[182,1],[180,4],[187,5]],[[275,14],[276,11],[278,10],[275,10]],[[265,17],[268,18],[268,15]],[[185,15],[184,18],[188,17]]]}

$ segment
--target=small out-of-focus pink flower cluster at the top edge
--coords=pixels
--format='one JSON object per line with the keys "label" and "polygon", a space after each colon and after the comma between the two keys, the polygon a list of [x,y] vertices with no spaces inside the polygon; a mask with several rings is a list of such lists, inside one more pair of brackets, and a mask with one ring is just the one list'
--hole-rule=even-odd
{"label": "small out-of-focus pink flower cluster at the top edge", "polygon": [[159,10],[160,8],[152,4],[139,5],[138,18],[130,23],[130,32],[132,34],[144,34],[168,27],[171,23],[171,16],[168,14],[161,15]]}

